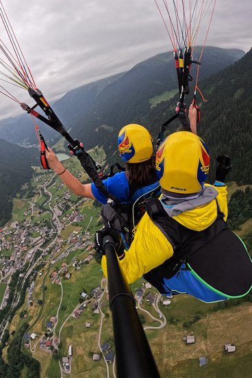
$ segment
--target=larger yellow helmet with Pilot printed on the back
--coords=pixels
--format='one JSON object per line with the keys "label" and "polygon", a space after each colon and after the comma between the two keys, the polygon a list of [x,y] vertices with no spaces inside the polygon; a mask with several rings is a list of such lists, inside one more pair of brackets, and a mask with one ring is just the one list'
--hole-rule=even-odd
{"label": "larger yellow helmet with Pilot printed on the back", "polygon": [[196,193],[205,183],[210,156],[199,136],[178,131],[168,136],[157,150],[155,168],[160,186],[173,193]]}

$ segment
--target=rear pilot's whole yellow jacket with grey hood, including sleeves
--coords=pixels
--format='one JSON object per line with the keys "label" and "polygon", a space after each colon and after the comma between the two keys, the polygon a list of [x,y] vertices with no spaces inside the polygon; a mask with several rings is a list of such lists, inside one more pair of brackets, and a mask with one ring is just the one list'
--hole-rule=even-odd
{"label": "rear pilot's whole yellow jacket with grey hood, including sleeves", "polygon": [[[207,189],[208,188],[208,189]],[[207,191],[214,195],[208,195]],[[192,199],[184,201],[178,205],[170,206],[171,216],[181,225],[194,231],[201,231],[210,227],[217,216],[217,203],[220,211],[225,214],[224,220],[227,219],[227,187],[214,187],[205,184],[205,203],[201,196],[201,201]],[[160,266],[163,262],[173,256],[173,247],[167,240],[166,236],[152,222],[147,213],[136,226],[135,237],[128,251],[125,251],[125,257],[120,261],[127,281],[133,283],[151,269]],[[106,259],[102,259],[103,273],[107,276]]]}

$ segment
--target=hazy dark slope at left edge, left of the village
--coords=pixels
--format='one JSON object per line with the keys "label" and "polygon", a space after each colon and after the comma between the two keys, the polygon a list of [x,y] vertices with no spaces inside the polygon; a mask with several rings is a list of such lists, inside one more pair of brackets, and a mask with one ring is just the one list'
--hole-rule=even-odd
{"label": "hazy dark slope at left edge, left of the village", "polygon": [[38,149],[25,149],[0,139],[0,226],[11,218],[12,199],[38,166]]}

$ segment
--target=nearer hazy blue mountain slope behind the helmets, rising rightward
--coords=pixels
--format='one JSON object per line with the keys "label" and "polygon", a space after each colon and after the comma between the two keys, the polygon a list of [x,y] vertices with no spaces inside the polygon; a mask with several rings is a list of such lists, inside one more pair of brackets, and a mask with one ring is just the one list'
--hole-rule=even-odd
{"label": "nearer hazy blue mountain slope behind the helmets, rising rightward", "polygon": [[[196,60],[200,51],[200,47],[195,49]],[[234,63],[242,55],[244,52],[241,50],[206,47],[200,78],[209,77]],[[195,65],[192,66],[193,77],[196,68]],[[152,112],[149,100],[176,88],[177,73],[173,53],[156,55],[137,64],[120,79],[105,87],[86,117],[73,124],[72,131],[80,136],[81,140],[86,140],[86,145],[90,148],[106,138],[110,140],[127,123],[143,123],[151,127],[151,123],[148,122],[149,114]],[[112,135],[109,135],[108,127],[105,128],[104,125],[112,127]]]}

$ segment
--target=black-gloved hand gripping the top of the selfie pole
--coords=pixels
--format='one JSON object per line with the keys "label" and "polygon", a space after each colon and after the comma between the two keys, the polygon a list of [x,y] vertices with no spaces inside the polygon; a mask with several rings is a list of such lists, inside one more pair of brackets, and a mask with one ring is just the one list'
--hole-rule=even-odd
{"label": "black-gloved hand gripping the top of the selfie pole", "polygon": [[123,259],[125,253],[120,234],[108,228],[97,231],[95,234],[95,250],[101,255],[105,255],[105,249],[108,245],[112,245],[116,249],[119,260]]}

